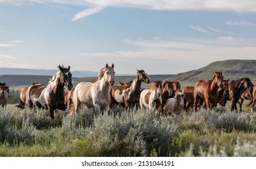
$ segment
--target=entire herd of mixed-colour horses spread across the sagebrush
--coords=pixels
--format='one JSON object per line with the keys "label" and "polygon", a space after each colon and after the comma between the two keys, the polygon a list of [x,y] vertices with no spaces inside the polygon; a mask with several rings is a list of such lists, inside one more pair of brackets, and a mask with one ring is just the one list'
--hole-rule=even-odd
{"label": "entire herd of mixed-colour horses spread across the sagebrush", "polygon": [[[182,91],[179,81],[154,81],[150,89],[141,87],[143,83],[150,83],[148,75],[137,70],[133,81],[114,86],[114,64],[102,66],[97,80],[80,82],[75,88],[72,84],[70,66],[58,66],[59,70],[47,84],[32,83],[21,89],[20,103],[17,107],[38,107],[48,109],[51,120],[54,120],[54,110],[65,113],[78,113],[79,109],[94,108],[96,115],[102,110],[114,107],[140,107],[140,109],[156,108],[156,115],[168,113],[176,116],[182,109],[190,108],[197,111],[198,107],[212,109],[219,103],[225,106],[231,100],[231,110],[237,111],[243,100],[250,100],[251,112],[254,111],[256,101],[256,85],[249,78],[241,78],[229,82],[224,80],[222,72],[215,72],[212,80],[199,80],[195,86],[187,86]],[[163,82],[163,84],[162,84]],[[68,89],[65,92],[65,88]],[[0,104],[4,107],[8,99],[8,86],[0,83]]]}

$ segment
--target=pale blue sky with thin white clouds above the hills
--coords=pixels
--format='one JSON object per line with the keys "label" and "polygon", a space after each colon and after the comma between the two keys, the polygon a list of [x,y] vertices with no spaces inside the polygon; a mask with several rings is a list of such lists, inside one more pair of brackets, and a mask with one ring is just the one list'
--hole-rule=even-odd
{"label": "pale blue sky with thin white clouds above the hills", "polygon": [[255,0],[0,0],[2,68],[177,74],[255,54]]}

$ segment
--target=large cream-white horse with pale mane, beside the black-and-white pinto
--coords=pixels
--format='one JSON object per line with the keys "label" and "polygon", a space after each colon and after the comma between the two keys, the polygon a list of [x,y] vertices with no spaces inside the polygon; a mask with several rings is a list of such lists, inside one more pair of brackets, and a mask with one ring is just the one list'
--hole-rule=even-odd
{"label": "large cream-white horse with pale mane, beside the black-and-white pinto", "polygon": [[107,110],[110,103],[110,86],[114,84],[114,74],[114,64],[111,67],[106,64],[100,69],[96,82],[77,84],[74,89],[71,113],[77,112],[81,104],[85,107],[94,107],[96,115],[100,114],[101,109]]}

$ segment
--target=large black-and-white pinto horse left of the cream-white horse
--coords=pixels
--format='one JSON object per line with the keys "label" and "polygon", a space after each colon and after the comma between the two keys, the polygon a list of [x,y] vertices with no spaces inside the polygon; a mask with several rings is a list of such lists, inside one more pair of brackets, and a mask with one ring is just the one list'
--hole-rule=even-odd
{"label": "large black-and-white pinto horse left of the cream-white horse", "polygon": [[64,68],[59,65],[59,71],[46,85],[34,84],[27,89],[25,106],[48,109],[51,120],[54,120],[54,110],[60,109],[67,112],[64,104],[64,86],[71,90],[73,87],[71,76],[70,66]]}

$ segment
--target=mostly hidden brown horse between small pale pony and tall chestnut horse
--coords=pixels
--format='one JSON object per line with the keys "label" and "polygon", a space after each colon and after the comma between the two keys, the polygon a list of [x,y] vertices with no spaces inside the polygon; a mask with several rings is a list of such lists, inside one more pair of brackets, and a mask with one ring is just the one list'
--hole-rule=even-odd
{"label": "mostly hidden brown horse between small pale pony and tall chestnut horse", "polygon": [[193,108],[194,104],[194,86],[187,86],[182,90],[184,94],[184,110],[188,112],[189,108]]}

